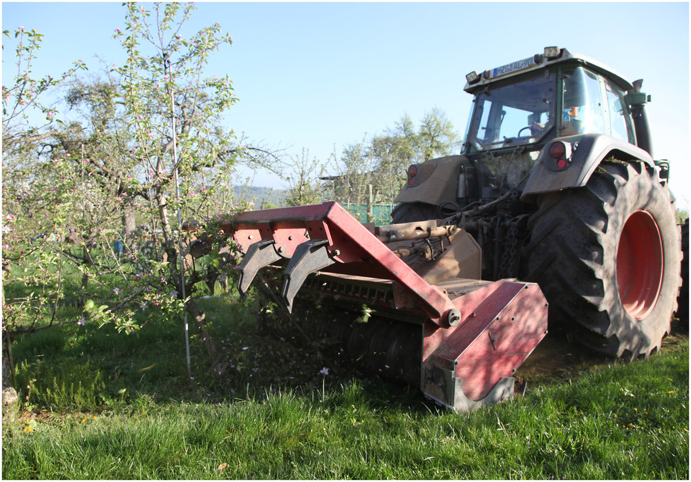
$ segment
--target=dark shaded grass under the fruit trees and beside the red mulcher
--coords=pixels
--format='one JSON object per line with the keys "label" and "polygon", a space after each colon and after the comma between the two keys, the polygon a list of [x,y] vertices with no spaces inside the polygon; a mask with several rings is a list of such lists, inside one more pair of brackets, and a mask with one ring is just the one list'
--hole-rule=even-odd
{"label": "dark shaded grass under the fruit trees and beside the red mulcher", "polygon": [[[228,363],[223,376],[211,373],[209,356],[193,333],[192,376],[187,374],[182,317],[147,322],[132,334],[118,333],[113,326],[66,325],[15,341],[20,401],[34,411],[100,411],[140,402],[261,401],[281,392],[315,398],[324,391],[343,392],[359,380],[359,394],[373,407],[439,410],[417,387],[381,380],[341,360],[328,340],[310,339],[312,334],[305,336],[290,323],[258,322],[256,307],[235,296],[205,298],[200,305],[209,333]],[[665,349],[674,349],[684,339],[688,334],[673,334],[665,340]],[[618,363],[623,362],[550,334],[517,376],[527,378],[530,393]]]}

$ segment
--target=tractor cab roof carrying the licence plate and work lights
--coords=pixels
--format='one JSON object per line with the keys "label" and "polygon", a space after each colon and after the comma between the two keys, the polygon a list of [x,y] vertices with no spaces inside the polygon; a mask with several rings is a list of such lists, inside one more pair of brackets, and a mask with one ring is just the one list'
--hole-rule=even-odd
{"label": "tractor cab roof carrying the licence plate and work lights", "polygon": [[536,54],[527,59],[521,59],[518,61],[511,62],[511,64],[506,64],[491,70],[485,70],[481,74],[477,74],[475,71],[466,75],[466,86],[463,88],[466,92],[474,93],[477,88],[486,86],[495,81],[504,80],[510,77],[515,77],[518,75],[524,75],[525,73],[533,72],[535,70],[542,70],[554,64],[562,64],[569,62],[572,64],[583,64],[595,70],[596,72],[605,75],[608,79],[614,81],[624,90],[631,90],[633,88],[630,81],[628,81],[623,75],[618,73],[613,68],[609,68],[605,64],[598,62],[590,57],[580,54],[572,54],[569,50],[565,48],[557,47],[547,47],[545,48],[544,54]]}

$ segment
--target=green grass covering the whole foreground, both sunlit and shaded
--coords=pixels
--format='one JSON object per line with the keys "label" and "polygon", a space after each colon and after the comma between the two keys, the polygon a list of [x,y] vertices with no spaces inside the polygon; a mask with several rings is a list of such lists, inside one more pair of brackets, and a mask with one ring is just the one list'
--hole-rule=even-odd
{"label": "green grass covering the whole foreground, both sunlit and shaded", "polygon": [[180,322],[17,340],[3,478],[688,480],[688,336],[453,414],[417,389],[323,376],[290,327],[267,336],[234,298],[204,301],[232,363],[220,380],[196,340],[187,376]]}

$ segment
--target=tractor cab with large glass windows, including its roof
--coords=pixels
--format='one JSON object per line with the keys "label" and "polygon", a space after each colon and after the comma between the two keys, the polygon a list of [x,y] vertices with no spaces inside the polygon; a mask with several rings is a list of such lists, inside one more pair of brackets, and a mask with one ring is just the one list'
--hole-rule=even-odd
{"label": "tractor cab with large glass windows, including its roof", "polygon": [[466,168],[475,171],[468,177],[479,182],[460,190],[468,202],[522,191],[540,150],[553,139],[578,142],[586,134],[604,134],[636,145],[627,97],[632,84],[587,57],[546,48],[466,80],[473,108],[462,154]]}

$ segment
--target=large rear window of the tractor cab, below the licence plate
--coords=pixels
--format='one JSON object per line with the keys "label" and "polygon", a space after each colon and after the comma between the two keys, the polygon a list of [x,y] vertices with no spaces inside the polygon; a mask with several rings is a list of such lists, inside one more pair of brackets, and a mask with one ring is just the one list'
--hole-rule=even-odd
{"label": "large rear window of the tractor cab, below the licence plate", "polygon": [[533,144],[554,124],[556,76],[488,86],[475,96],[466,142],[475,151]]}

